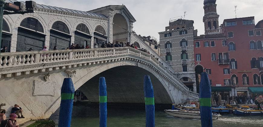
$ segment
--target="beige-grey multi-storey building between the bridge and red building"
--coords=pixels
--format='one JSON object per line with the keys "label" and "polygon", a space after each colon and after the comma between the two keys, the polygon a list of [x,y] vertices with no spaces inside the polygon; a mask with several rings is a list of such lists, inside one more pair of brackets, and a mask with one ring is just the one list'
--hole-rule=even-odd
{"label": "beige-grey multi-storey building between the bridge and red building", "polygon": [[196,79],[194,70],[193,20],[170,20],[160,35],[160,56],[165,60],[176,75],[191,91],[196,92]]}

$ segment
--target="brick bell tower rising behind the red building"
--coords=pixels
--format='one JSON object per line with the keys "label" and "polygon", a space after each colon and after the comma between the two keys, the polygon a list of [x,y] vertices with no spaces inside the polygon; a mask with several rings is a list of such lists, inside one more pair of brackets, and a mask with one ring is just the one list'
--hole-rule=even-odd
{"label": "brick bell tower rising behind the red building", "polygon": [[216,0],[204,0],[205,34],[216,34],[219,32],[219,15],[216,13]]}

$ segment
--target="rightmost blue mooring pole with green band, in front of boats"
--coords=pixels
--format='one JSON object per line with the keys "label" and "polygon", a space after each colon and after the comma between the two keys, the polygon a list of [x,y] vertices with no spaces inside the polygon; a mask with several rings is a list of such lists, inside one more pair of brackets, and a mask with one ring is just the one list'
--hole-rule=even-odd
{"label": "rightmost blue mooring pole with green band, in front of boats", "polygon": [[211,87],[206,72],[203,72],[201,75],[199,101],[202,127],[213,127],[211,110]]}

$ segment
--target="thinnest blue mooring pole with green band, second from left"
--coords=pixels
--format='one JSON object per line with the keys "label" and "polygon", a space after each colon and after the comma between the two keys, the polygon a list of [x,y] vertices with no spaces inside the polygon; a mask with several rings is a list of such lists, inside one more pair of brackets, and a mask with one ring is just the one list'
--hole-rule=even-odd
{"label": "thinnest blue mooring pole with green band, second from left", "polygon": [[107,127],[107,87],[104,77],[99,78],[99,127]]}

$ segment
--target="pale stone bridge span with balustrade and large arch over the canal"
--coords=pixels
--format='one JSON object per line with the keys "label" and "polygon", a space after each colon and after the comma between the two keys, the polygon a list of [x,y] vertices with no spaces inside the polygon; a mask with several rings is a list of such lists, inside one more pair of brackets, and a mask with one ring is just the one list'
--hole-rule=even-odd
{"label": "pale stone bridge span with balustrade and large arch over the canal", "polygon": [[144,75],[151,76],[156,104],[199,98],[152,55],[122,47],[1,53],[0,100],[7,113],[18,104],[24,116],[44,119],[60,106],[64,78],[71,77],[75,90],[99,102],[103,76],[109,103],[144,103]]}

